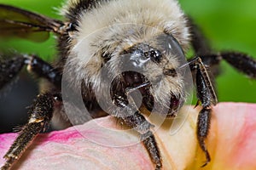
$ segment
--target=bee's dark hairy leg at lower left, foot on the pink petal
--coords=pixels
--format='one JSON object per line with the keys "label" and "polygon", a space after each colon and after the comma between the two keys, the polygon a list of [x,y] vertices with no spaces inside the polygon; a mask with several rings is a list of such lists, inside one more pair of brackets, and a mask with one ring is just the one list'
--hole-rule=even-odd
{"label": "bee's dark hairy leg at lower left, foot on the pink petal", "polygon": [[22,156],[23,152],[36,138],[38,133],[44,131],[53,116],[56,102],[61,102],[60,94],[39,94],[28,111],[29,119],[20,131],[14,143],[3,156],[6,159],[1,170],[9,169],[16,160]]}

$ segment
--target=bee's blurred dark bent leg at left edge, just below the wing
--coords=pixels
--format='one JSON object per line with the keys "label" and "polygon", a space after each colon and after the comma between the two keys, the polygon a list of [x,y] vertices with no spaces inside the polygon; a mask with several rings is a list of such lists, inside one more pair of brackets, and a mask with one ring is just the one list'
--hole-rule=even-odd
{"label": "bee's blurred dark bent leg at left edge, just below the wing", "polygon": [[36,55],[15,54],[12,59],[0,61],[0,89],[19,74],[24,65],[38,77],[44,77],[56,87],[61,87],[61,74],[53,66]]}

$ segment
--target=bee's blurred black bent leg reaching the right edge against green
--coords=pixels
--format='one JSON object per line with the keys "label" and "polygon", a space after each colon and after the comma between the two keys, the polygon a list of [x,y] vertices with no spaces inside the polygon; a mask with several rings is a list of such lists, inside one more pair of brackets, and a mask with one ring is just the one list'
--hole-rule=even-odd
{"label": "bee's blurred black bent leg reaching the right edge against green", "polygon": [[207,38],[203,35],[201,29],[195,25],[195,22],[187,17],[191,31],[191,44],[195,54],[201,57],[202,62],[211,68],[212,74],[218,76],[218,65],[221,60],[227,61],[238,71],[243,72],[248,77],[256,78],[256,60],[240,52],[221,52],[212,53]]}

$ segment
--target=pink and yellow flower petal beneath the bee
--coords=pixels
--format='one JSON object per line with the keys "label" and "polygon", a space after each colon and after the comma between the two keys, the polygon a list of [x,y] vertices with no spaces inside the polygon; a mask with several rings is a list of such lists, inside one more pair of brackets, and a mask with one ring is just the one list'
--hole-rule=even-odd
{"label": "pink and yellow flower petal beneath the bee", "polygon": [[[155,133],[164,169],[199,169],[205,157],[196,140],[199,108],[184,107],[189,117],[177,133],[170,133],[166,120]],[[0,135],[0,157],[17,133]],[[220,103],[214,107],[207,147],[212,161],[203,169],[256,169],[256,105]],[[0,158],[0,165],[4,159]],[[147,150],[135,133],[110,116],[40,134],[21,156],[14,169],[154,169]]]}

